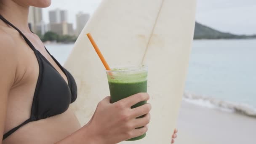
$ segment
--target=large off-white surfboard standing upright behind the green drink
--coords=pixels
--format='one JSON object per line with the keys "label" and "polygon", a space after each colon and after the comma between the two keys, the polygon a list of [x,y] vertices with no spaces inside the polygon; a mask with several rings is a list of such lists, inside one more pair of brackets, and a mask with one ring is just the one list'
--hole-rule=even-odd
{"label": "large off-white surfboard standing upright behind the green drink", "polygon": [[176,127],[195,27],[196,0],[102,0],[78,37],[64,67],[75,77],[72,105],[87,123],[109,95],[107,76],[86,33],[90,32],[110,67],[147,64],[152,118],[139,141],[169,144]]}

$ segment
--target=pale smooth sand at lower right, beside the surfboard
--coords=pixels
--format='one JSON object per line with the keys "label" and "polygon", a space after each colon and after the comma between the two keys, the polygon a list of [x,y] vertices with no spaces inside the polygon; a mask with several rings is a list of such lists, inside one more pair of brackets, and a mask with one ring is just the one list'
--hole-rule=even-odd
{"label": "pale smooth sand at lower right, beside the surfboard", "polygon": [[256,118],[182,101],[175,144],[256,144]]}

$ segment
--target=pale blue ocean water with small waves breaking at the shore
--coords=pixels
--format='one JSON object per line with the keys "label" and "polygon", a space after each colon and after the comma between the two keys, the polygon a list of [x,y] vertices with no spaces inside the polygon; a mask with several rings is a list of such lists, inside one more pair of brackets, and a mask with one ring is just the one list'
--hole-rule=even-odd
{"label": "pale blue ocean water with small waves breaking at the shore", "polygon": [[[64,64],[73,44],[46,44]],[[194,40],[184,101],[256,117],[256,39]]]}

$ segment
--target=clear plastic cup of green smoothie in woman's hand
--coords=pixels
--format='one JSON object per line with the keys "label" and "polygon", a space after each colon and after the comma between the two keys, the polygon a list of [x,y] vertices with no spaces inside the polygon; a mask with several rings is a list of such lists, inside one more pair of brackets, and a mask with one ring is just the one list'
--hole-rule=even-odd
{"label": "clear plastic cup of green smoothie in woman's hand", "polygon": [[[136,93],[147,92],[147,67],[141,66],[137,68],[120,68],[107,71],[109,90],[111,96],[111,102],[114,103],[128,96],[132,96]],[[141,101],[131,108],[139,107],[146,104],[147,101]],[[144,115],[137,117],[141,118]],[[144,133],[141,136],[128,139],[127,141],[135,141],[142,139],[146,136]]]}

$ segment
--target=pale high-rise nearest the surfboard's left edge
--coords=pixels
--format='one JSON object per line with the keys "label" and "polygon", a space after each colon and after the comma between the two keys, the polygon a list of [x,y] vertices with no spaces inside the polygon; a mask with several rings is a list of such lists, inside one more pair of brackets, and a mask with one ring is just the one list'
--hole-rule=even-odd
{"label": "pale high-rise nearest the surfboard's left edge", "polygon": [[77,13],[76,15],[76,22],[77,22],[76,35],[77,36],[80,34],[80,32],[82,32],[83,27],[85,27],[85,24],[87,23],[89,18],[90,18],[90,15],[88,13],[82,13],[82,12]]}

